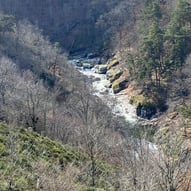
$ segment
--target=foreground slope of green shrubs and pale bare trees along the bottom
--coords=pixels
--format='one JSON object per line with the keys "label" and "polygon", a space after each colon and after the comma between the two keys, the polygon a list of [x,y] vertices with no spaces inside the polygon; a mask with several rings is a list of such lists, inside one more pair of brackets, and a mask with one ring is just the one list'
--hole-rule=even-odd
{"label": "foreground slope of green shrubs and pale bare trees along the bottom", "polygon": [[[0,189],[130,191],[146,186],[153,191],[163,191],[173,180],[171,186],[177,191],[189,191],[189,151],[183,149],[181,137],[168,136],[161,137],[162,152],[158,150],[157,153],[144,141],[123,140],[123,144],[110,153],[110,159],[107,156],[103,160],[99,154],[95,155],[94,171],[88,150],[84,152],[83,149],[52,141],[30,128],[0,123]],[[172,174],[166,179],[168,171]],[[179,171],[181,174],[177,175]],[[133,182],[134,178],[137,184]],[[92,180],[95,181],[93,184]],[[146,182],[142,183],[142,180]]]}

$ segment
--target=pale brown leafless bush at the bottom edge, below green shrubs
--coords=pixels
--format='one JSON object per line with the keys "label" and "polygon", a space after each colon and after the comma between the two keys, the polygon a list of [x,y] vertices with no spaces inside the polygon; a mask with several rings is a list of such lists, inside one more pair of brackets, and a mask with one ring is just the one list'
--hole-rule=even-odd
{"label": "pale brown leafless bush at the bottom edge, below green shrubs", "polygon": [[[42,191],[77,191],[79,190],[75,181],[79,175],[79,169],[68,165],[64,170],[59,164],[50,165],[45,161],[32,164],[32,177],[35,177],[35,190]],[[34,179],[34,178],[33,178]]]}

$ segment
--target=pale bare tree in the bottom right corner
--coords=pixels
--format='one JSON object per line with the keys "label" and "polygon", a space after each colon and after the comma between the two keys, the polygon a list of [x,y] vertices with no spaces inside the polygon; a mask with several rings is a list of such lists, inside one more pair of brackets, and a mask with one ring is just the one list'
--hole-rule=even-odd
{"label": "pale bare tree in the bottom right corner", "polygon": [[155,158],[161,190],[189,191],[191,188],[190,150],[186,149],[184,140],[175,132],[171,132],[171,135],[169,133],[162,142],[161,152]]}

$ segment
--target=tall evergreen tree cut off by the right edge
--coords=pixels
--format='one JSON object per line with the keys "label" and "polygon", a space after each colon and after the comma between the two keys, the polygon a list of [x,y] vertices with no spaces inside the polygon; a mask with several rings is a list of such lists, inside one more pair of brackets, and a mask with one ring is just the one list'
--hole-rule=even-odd
{"label": "tall evergreen tree cut off by the right edge", "polygon": [[191,5],[179,0],[165,33],[166,74],[182,68],[191,52]]}

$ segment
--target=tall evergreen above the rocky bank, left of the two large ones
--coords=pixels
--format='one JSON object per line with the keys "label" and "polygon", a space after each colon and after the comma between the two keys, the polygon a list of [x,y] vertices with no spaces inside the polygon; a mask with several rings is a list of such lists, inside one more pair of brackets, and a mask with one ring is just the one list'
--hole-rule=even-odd
{"label": "tall evergreen above the rocky bank, left of the two large ones", "polygon": [[138,78],[160,86],[163,70],[163,30],[160,27],[162,12],[157,0],[145,1],[144,20],[149,23],[140,48]]}

